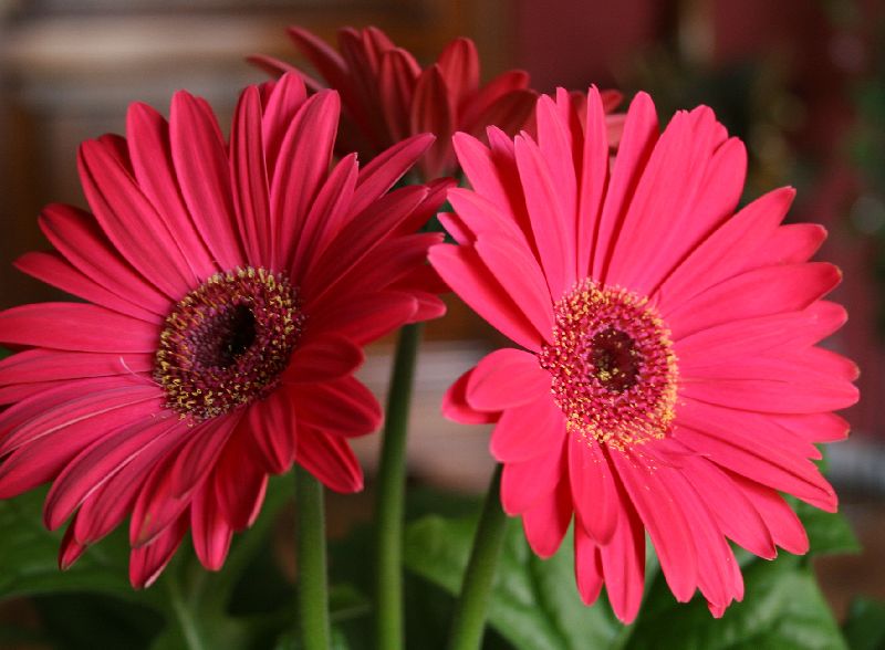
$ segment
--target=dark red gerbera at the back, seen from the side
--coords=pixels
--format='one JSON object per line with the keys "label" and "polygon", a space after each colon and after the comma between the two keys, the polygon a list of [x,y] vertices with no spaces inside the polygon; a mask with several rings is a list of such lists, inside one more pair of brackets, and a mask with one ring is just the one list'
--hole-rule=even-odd
{"label": "dark red gerbera at the back, seen from the side", "polygon": [[[290,28],[289,35],[325,84],[341,93],[346,116],[342,145],[348,150],[372,158],[415,134],[437,136],[420,161],[426,179],[455,172],[450,138],[456,130],[481,137],[486,126],[494,124],[512,135],[534,107],[535,93],[528,88],[529,75],[521,70],[480,84],[479,56],[469,39],[456,39],[436,63],[421,69],[377,28],[341,30],[340,53],[301,28]],[[272,74],[295,70],[269,56],[256,55],[251,61]],[[306,78],[310,87],[323,86]]]}

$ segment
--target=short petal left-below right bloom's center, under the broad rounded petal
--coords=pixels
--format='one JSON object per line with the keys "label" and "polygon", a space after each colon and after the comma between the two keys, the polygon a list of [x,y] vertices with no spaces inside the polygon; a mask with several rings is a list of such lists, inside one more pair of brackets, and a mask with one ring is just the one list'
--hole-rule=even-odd
{"label": "short petal left-below right bloom's center, under the broad rounded petal", "polygon": [[500,462],[521,463],[558,448],[565,434],[565,418],[559,407],[549,397],[535,397],[534,401],[506,407],[489,450]]}

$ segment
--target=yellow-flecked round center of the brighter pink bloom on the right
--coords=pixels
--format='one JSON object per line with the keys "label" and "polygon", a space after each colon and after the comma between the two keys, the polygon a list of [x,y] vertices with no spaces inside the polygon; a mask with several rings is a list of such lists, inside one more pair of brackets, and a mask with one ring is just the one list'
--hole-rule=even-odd
{"label": "yellow-flecked round center of the brighter pink bloom on the right", "polygon": [[664,438],[678,368],[670,334],[648,300],[593,280],[554,307],[553,343],[539,356],[573,434],[616,449]]}

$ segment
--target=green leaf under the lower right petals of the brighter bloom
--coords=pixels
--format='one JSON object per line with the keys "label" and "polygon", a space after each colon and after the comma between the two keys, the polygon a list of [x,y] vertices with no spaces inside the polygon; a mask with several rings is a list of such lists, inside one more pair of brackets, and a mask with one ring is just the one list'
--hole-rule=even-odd
{"label": "green leaf under the lower right petals of the brighter bloom", "polygon": [[717,620],[705,600],[676,602],[656,580],[646,595],[625,648],[718,650],[839,650],[845,648],[839,626],[811,569],[794,556],[757,560],[743,572],[743,602]]}

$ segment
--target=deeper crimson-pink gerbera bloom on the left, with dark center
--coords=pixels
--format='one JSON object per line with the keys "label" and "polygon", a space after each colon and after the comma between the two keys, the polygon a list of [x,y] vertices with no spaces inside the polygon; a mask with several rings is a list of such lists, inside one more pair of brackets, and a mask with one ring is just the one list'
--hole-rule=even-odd
{"label": "deeper crimson-pink gerbera bloom on the left, with dark center", "polygon": [[365,343],[444,311],[425,263],[440,238],[413,233],[445,185],[385,195],[429,135],[330,170],[339,109],[287,75],[243,92],[229,144],[181,92],[168,123],[135,104],[127,138],[81,147],[94,216],[48,207],[55,251],[17,264],[86,302],[0,314],[25,348],[0,364],[0,497],[52,482],[62,567],[129,516],[134,586],[188,528],[217,569],[293,462],[362,488],[347,439],[382,416],[352,374]]}

